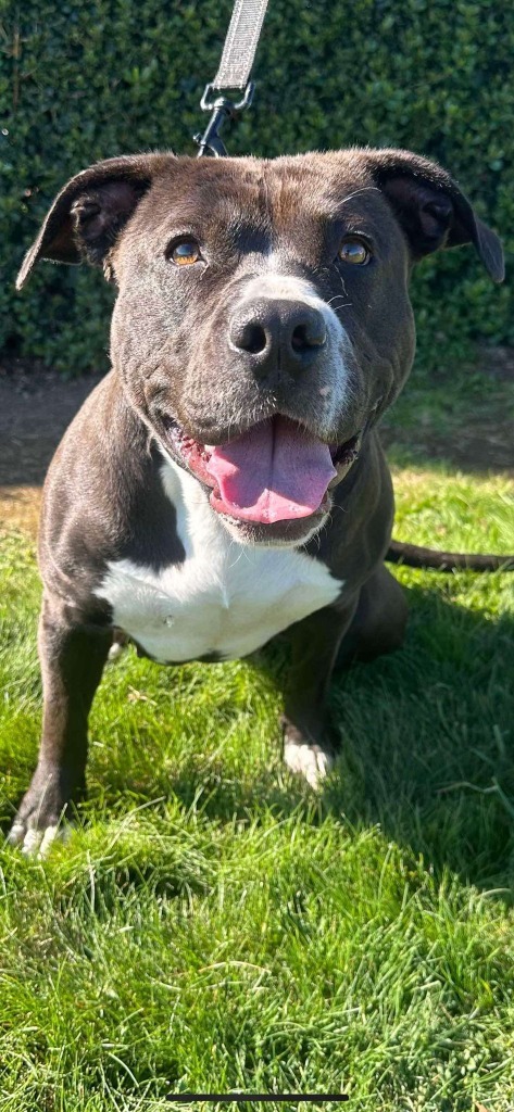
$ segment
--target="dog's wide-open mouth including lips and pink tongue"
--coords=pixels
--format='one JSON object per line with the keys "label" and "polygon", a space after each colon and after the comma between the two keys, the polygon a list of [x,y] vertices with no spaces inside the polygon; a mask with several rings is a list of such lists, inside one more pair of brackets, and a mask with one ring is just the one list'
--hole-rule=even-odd
{"label": "dog's wide-open mouth including lips and pink tongue", "polygon": [[362,440],[358,433],[343,445],[328,445],[281,415],[223,445],[194,440],[175,420],[166,428],[175,455],[210,487],[212,509],[259,525],[326,514],[329,488],[355,463]]}

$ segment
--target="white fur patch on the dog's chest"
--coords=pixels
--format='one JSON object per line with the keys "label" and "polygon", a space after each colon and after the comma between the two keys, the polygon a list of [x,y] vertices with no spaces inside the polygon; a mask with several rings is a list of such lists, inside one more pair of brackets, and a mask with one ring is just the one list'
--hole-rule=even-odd
{"label": "white fur patch on the dog's chest", "polygon": [[343,584],[290,548],[231,539],[197,480],[168,461],[166,493],[186,557],[159,570],[111,562],[97,594],[112,622],[162,663],[246,656],[337,598]]}

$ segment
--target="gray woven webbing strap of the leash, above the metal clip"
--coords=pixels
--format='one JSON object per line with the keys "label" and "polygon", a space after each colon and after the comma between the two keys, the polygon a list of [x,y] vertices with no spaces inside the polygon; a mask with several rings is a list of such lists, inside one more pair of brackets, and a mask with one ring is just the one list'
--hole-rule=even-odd
{"label": "gray woven webbing strap of the leash, above the metal clip", "polygon": [[236,0],[214,89],[245,89],[268,0]]}

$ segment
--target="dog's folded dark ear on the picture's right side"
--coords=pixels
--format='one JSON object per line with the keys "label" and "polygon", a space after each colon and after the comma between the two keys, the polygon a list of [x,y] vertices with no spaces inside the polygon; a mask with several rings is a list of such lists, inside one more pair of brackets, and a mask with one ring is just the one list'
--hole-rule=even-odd
{"label": "dog's folded dark ear on the picture's right side", "polygon": [[475,216],[443,167],[407,150],[366,153],[373,177],[392,205],[415,261],[439,247],[473,244],[493,281],[503,281],[498,237]]}

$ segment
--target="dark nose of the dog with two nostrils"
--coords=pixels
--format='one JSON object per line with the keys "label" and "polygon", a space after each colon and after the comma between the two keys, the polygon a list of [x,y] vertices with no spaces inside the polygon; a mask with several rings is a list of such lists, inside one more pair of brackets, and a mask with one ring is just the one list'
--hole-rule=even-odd
{"label": "dark nose of the dog with two nostrils", "polygon": [[257,374],[270,369],[296,373],[326,344],[322,312],[302,301],[261,298],[236,309],[228,330],[233,350],[250,357]]}

